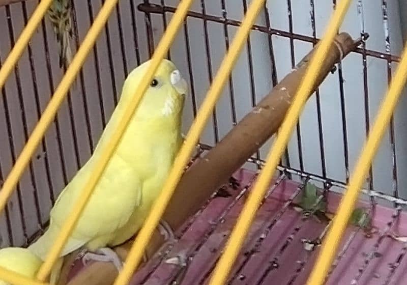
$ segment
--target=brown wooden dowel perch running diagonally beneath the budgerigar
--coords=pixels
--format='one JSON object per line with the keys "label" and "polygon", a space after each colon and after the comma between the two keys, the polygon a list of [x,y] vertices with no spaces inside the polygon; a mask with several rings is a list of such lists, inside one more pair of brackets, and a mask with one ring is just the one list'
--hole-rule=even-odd
{"label": "brown wooden dowel perch running diagonally beneath the budgerigar", "polygon": [[[322,63],[323,67],[313,90],[317,89],[335,64],[359,44],[360,40],[354,41],[347,33],[339,34]],[[195,214],[212,193],[227,182],[229,177],[278,130],[314,50],[315,48],[257,104],[253,111],[211,149],[205,159],[199,160],[185,173],[164,214],[164,219],[172,229],[178,229],[188,217]],[[260,108],[261,112],[255,111]],[[125,256],[130,242],[132,241],[115,250]],[[150,257],[162,243],[161,236],[156,232],[148,248]],[[63,274],[69,269],[69,263],[66,262]],[[113,265],[94,263],[72,278],[69,285],[110,285],[116,276],[117,270]],[[63,280],[61,284],[64,284]]]}

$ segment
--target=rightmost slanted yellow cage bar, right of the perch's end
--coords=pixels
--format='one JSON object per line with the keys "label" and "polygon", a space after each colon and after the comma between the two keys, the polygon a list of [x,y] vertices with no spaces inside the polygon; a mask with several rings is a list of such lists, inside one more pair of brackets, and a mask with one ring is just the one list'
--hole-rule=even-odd
{"label": "rightmost slanted yellow cage bar, right of the perch's end", "polygon": [[[339,5],[341,5],[340,2]],[[404,48],[401,62],[390,84],[386,97],[377,112],[376,120],[371,128],[365,147],[356,164],[354,175],[351,177],[345,195],[342,197],[337,214],[327,239],[323,244],[318,260],[307,281],[307,284],[319,285],[324,282],[326,273],[332,264],[340,239],[344,233],[352,209],[354,209],[363,180],[366,177],[371,161],[379,148],[386,127],[388,126],[401,91],[407,80],[407,46]]]}

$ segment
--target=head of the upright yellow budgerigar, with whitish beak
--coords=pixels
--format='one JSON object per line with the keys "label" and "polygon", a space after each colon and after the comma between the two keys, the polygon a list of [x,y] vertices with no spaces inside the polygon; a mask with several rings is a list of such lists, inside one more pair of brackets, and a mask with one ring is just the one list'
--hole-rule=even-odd
{"label": "head of the upright yellow budgerigar, with whitish beak", "polygon": [[[134,96],[150,63],[151,61],[144,62],[129,74],[123,86],[123,99],[128,100]],[[164,59],[141,99],[136,117],[148,119],[179,115],[184,107],[187,92],[187,82],[181,72],[171,61]]]}

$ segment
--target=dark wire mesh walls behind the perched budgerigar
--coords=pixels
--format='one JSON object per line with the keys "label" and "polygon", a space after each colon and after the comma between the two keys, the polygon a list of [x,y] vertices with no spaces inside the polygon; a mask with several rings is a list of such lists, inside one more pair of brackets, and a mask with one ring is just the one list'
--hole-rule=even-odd
{"label": "dark wire mesh walls behind the perched budgerigar", "polygon": [[[170,48],[168,58],[188,78],[190,86],[184,132],[190,127],[249,2],[196,0]],[[72,3],[71,46],[75,51],[103,1]],[[150,58],[178,3],[119,1],[78,74],[76,88],[68,94],[0,218],[1,247],[25,245],[44,229],[55,198],[93,152],[125,77]],[[0,7],[0,61],[5,60],[37,4],[26,0]],[[267,1],[201,135],[202,151],[222,139],[309,52],[324,33],[335,5],[336,0]],[[329,191],[343,191],[399,61],[407,30],[407,10],[402,9],[403,5],[401,0],[352,2],[341,31],[354,38],[364,33],[370,37],[337,65],[308,100],[277,180],[288,177],[301,184],[281,211],[307,181]],[[2,90],[1,180],[9,173],[49,94],[62,78],[64,71],[58,62],[55,37],[45,19]],[[364,198],[370,200],[372,207],[386,202],[395,207],[389,229],[407,203],[406,107],[403,94],[364,185]],[[253,154],[244,167],[261,167],[272,140]],[[243,185],[241,195],[251,182]],[[387,231],[384,229],[382,234]]]}

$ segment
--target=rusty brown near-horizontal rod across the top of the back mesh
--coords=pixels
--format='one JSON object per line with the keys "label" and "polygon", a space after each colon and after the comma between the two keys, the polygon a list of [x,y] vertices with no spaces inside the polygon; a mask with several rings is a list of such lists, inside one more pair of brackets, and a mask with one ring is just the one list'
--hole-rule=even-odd
{"label": "rusty brown near-horizontal rod across the top of the back mesh", "polygon": [[[138,6],[138,9],[144,13],[156,13],[156,14],[162,14],[164,12],[175,12],[175,10],[176,10],[176,8],[174,8],[174,7],[169,7],[169,6],[162,7],[160,5],[146,5],[146,4],[140,4]],[[214,15],[202,15],[202,13],[197,13],[197,12],[192,12],[192,11],[188,12],[188,16],[192,17],[192,18],[197,18],[197,19],[202,19],[202,18],[206,17],[208,19],[208,21],[223,23],[223,24],[232,25],[232,26],[241,25],[241,22],[237,21],[237,20],[224,19],[223,17],[214,16]],[[274,29],[274,28],[269,29],[267,26],[262,26],[262,25],[257,25],[257,24],[253,25],[251,27],[251,29],[253,31],[259,31],[259,32],[263,32],[263,33],[267,33],[267,34],[271,34],[271,35],[284,37],[284,38],[293,38],[295,40],[300,40],[300,41],[309,42],[309,43],[316,43],[320,40],[320,39],[315,40],[313,37],[309,37],[309,36],[305,36],[305,35],[301,35],[301,34],[296,34],[296,33],[290,34],[287,31],[283,31],[283,30],[279,30],[279,29]],[[370,49],[363,50],[362,48],[356,48],[352,52],[359,53],[359,54],[362,54],[363,52],[365,52],[367,56],[371,56],[373,58],[378,58],[378,59],[389,60],[392,62],[400,61],[399,56],[397,56],[396,54],[392,54],[389,56],[385,52],[380,52],[380,51],[376,51],[376,50],[370,50]]]}

